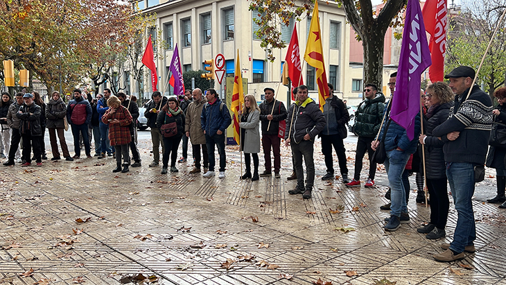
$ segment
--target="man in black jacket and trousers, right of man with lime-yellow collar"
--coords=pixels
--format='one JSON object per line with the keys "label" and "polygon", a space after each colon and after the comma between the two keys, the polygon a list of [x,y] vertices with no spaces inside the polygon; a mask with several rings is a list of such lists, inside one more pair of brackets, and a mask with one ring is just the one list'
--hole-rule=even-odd
{"label": "man in black jacket and trousers, right of man with lime-yellow collar", "polygon": [[322,137],[322,153],[325,156],[326,174],[322,180],[334,178],[334,167],[332,157],[332,146],[338,155],[339,169],[342,175],[342,182],[349,183],[348,167],[346,166],[346,148],[342,141],[348,135],[346,123],[349,121],[349,114],[346,105],[337,96],[333,96],[334,87],[329,85],[329,98],[326,98],[323,105],[323,115],[326,119],[325,128],[320,132]]}

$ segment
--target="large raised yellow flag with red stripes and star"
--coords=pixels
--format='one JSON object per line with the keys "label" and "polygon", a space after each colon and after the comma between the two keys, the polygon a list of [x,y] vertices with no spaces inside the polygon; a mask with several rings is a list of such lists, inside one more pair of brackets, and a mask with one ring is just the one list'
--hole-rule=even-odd
{"label": "large raised yellow flag with red stripes and star", "polygon": [[320,18],[318,17],[318,1],[315,1],[313,18],[309,28],[308,42],[304,60],[316,69],[316,82],[318,85],[318,105],[323,112],[325,99],[329,98],[329,86],[326,83],[325,63],[323,61],[322,33],[320,33]]}

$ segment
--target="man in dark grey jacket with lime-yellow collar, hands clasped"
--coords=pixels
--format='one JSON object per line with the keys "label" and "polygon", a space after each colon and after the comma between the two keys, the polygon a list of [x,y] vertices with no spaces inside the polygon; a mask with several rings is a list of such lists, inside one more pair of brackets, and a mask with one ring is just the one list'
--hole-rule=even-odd
{"label": "man in dark grey jacket with lime-yellow collar, hands clasped", "polygon": [[[295,112],[294,112],[295,108]],[[308,87],[300,85],[297,89],[297,101],[288,110],[286,119],[285,144],[290,145],[295,159],[297,187],[288,193],[302,194],[302,198],[311,198],[315,182],[315,162],[313,161],[315,137],[325,128],[323,112],[313,99],[308,98]],[[304,186],[304,169],[302,157],[306,162],[306,185]]]}

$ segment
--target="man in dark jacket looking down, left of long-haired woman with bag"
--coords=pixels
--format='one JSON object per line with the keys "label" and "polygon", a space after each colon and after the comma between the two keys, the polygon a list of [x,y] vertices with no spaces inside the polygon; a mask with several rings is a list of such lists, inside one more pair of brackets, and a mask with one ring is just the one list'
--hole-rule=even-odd
{"label": "man in dark jacket looking down, left of long-haired woman with bag", "polygon": [[165,153],[164,139],[162,133],[157,128],[157,116],[162,107],[167,103],[167,98],[162,93],[155,91],[151,95],[151,101],[146,104],[146,112],[144,116],[148,119],[148,126],[151,129],[151,140],[153,143],[153,162],[149,167],[156,167],[160,160],[160,144],[162,144],[162,152]]}

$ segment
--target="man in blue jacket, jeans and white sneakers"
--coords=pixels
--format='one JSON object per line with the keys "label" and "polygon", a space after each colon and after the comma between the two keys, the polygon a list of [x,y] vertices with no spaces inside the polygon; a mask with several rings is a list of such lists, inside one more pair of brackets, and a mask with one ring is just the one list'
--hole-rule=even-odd
{"label": "man in blue jacket, jeans and white sneakers", "polygon": [[206,136],[207,155],[209,156],[209,171],[204,173],[204,177],[211,178],[214,173],[214,146],[218,147],[220,154],[220,174],[218,178],[225,178],[225,166],[227,157],[225,157],[225,130],[232,123],[227,105],[223,103],[215,89],[208,89],[206,92],[207,103],[202,108],[200,115],[200,126]]}

